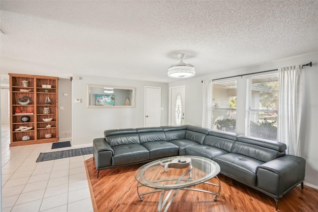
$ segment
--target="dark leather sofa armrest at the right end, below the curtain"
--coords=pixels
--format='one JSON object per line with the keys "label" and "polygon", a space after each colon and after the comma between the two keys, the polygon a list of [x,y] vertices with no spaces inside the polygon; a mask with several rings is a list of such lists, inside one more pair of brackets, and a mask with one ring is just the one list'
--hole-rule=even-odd
{"label": "dark leather sofa armrest at the right end, below the curtain", "polygon": [[283,155],[263,163],[256,169],[256,186],[279,199],[304,181],[305,166],[305,159],[294,155]]}

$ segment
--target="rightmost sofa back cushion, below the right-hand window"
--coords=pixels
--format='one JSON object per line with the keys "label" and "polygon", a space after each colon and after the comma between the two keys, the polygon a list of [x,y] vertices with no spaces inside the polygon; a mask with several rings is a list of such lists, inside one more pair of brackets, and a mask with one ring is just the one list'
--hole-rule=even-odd
{"label": "rightmost sofa back cushion, below the right-hand window", "polygon": [[275,141],[272,142],[238,136],[238,141],[234,143],[231,153],[237,153],[263,162],[268,162],[284,155],[285,147],[282,143]]}

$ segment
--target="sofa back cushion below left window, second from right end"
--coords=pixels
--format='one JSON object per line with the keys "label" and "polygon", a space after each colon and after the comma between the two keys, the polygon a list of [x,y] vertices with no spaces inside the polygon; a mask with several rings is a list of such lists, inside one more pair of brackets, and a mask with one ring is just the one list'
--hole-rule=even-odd
{"label": "sofa back cushion below left window, second from right end", "polygon": [[203,144],[230,152],[236,140],[237,135],[234,133],[212,130],[204,138]]}

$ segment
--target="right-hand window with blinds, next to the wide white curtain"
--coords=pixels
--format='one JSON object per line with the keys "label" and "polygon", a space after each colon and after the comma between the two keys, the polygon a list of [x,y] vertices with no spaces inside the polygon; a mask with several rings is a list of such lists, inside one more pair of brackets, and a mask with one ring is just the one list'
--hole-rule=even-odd
{"label": "right-hand window with blinds, next to the wide white curtain", "polygon": [[277,140],[278,74],[247,79],[246,135]]}

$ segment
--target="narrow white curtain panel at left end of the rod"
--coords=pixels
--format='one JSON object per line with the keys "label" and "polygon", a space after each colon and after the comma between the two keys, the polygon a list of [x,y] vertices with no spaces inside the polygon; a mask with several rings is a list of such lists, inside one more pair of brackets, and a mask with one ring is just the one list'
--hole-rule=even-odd
{"label": "narrow white curtain panel at left end of the rod", "polygon": [[212,80],[205,80],[203,84],[203,112],[202,127],[212,128]]}

